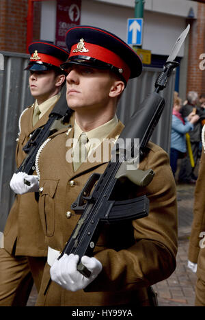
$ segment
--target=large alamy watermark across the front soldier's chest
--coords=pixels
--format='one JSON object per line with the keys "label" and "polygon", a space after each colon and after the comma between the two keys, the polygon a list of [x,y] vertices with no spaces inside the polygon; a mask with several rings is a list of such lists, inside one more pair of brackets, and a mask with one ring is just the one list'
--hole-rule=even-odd
{"label": "large alamy watermark across the front soldier's chest", "polygon": [[100,163],[111,160],[111,162],[126,162],[129,170],[139,167],[139,138],[118,138],[117,141],[114,138],[105,138],[102,142],[92,138],[89,140],[89,146],[91,151],[87,151],[85,146],[80,147],[77,139],[68,138],[66,161]]}

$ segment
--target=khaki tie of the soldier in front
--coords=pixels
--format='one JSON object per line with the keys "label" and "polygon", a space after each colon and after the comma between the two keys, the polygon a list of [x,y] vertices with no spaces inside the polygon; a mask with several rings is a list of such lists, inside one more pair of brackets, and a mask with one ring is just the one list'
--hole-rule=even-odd
{"label": "khaki tie of the soldier in front", "polygon": [[82,162],[85,162],[87,158],[87,141],[87,135],[85,134],[85,132],[82,132],[77,145],[73,149],[74,171],[77,171],[77,169],[79,169],[79,167],[81,166]]}

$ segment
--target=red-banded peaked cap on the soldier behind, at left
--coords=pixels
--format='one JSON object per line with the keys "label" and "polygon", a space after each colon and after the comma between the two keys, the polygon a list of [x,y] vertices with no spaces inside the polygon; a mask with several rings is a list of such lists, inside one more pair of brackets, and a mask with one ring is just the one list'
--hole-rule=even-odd
{"label": "red-banded peaked cap on the soldier behind, at left", "polygon": [[31,55],[25,70],[46,71],[53,68],[61,70],[60,65],[68,59],[69,53],[49,42],[36,41],[28,47]]}

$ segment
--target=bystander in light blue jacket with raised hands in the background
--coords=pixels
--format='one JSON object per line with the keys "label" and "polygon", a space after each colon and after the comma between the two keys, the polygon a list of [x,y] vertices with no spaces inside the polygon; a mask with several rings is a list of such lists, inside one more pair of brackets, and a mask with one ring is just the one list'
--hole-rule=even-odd
{"label": "bystander in light blue jacket with raised hands in the background", "polygon": [[193,123],[199,120],[199,116],[191,112],[186,118],[182,118],[180,114],[182,101],[179,97],[174,99],[172,110],[172,132],[171,132],[171,148],[170,148],[170,165],[175,177],[177,169],[177,161],[184,158],[187,151],[186,133],[193,130]]}

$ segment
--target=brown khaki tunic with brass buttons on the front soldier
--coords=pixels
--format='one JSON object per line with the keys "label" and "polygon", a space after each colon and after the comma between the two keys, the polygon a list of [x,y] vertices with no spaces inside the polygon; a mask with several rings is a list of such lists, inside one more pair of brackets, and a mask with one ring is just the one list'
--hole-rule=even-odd
{"label": "brown khaki tunic with brass buttons on the front soldier", "polygon": [[[122,131],[118,123],[108,138]],[[66,161],[68,138],[61,130],[42,150],[39,160],[40,192],[39,212],[46,243],[62,251],[74,229],[79,214],[70,210],[91,173],[103,173],[107,163],[85,162],[74,173],[72,163]],[[146,188],[125,184],[120,188],[119,199],[126,190],[131,197],[147,195],[150,199],[148,217],[105,225],[94,256],[102,263],[102,272],[85,291],[66,291],[55,282],[49,284],[49,264],[46,264],[37,306],[103,306],[133,303],[143,305],[148,298],[147,287],[168,278],[176,268],[177,206],[176,186],[167,153],[148,143],[148,154],[141,169],[152,168],[154,179]],[[73,184],[74,182],[74,184]],[[68,218],[67,211],[72,212]]]}

